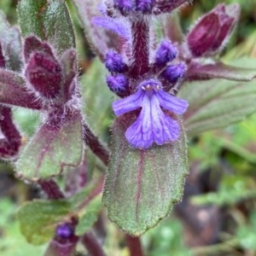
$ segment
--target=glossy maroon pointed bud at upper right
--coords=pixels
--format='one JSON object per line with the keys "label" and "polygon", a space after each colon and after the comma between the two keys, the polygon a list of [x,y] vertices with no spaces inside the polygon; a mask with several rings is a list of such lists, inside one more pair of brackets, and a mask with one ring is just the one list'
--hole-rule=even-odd
{"label": "glossy maroon pointed bud at upper right", "polygon": [[238,4],[226,6],[221,3],[202,16],[187,36],[187,44],[192,55],[211,55],[221,49],[236,25],[239,12]]}

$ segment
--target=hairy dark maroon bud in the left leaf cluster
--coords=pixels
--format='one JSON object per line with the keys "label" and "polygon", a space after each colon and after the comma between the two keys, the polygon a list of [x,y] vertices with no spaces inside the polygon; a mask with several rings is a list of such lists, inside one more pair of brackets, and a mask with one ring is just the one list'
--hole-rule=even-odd
{"label": "hairy dark maroon bud in the left leaf cluster", "polygon": [[55,98],[61,90],[61,66],[55,57],[44,52],[34,52],[28,61],[26,79],[46,98]]}

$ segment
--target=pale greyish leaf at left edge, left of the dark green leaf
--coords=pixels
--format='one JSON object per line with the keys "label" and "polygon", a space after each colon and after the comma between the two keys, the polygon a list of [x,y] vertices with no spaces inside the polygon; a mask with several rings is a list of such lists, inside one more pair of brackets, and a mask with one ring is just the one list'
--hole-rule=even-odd
{"label": "pale greyish leaf at left edge, left of the dark green leaf", "polygon": [[15,26],[10,26],[5,15],[0,10],[0,44],[2,44],[6,67],[10,70],[21,69],[21,38],[20,31]]}

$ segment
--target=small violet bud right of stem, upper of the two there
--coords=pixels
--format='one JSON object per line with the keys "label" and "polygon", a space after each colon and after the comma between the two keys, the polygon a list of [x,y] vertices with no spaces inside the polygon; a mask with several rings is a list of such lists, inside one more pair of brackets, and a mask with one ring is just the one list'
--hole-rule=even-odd
{"label": "small violet bud right of stem, upper of the two there", "polygon": [[173,61],[177,56],[177,49],[174,45],[164,40],[161,42],[155,54],[155,63],[159,65],[166,65],[167,62]]}

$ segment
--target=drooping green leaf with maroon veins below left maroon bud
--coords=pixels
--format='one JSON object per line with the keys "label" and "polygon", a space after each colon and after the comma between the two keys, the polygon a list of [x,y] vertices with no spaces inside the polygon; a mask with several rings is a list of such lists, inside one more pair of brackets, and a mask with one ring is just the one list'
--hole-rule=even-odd
{"label": "drooping green leaf with maroon veins below left maroon bud", "polygon": [[46,123],[27,143],[16,163],[16,172],[28,180],[58,175],[63,166],[79,166],[83,153],[80,113],[57,128]]}

